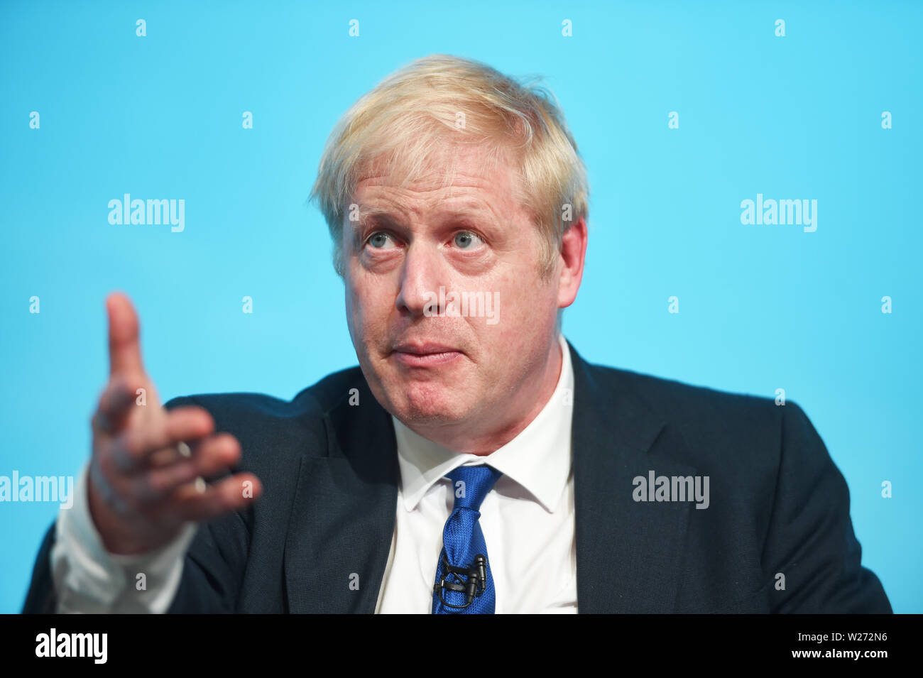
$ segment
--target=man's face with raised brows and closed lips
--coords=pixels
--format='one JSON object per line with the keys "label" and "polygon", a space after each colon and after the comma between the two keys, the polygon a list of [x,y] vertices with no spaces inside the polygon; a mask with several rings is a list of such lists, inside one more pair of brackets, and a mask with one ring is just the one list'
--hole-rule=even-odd
{"label": "man's face with raised brows and closed lips", "polygon": [[558,294],[513,169],[488,171],[480,147],[444,153],[458,154],[446,187],[444,167],[404,188],[361,177],[342,247],[350,336],[372,392],[417,433],[456,439],[533,410],[557,356]]}

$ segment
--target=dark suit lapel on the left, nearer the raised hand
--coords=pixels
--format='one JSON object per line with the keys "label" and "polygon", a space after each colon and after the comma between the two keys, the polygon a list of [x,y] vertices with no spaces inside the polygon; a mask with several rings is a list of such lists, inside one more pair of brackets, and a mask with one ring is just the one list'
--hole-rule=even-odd
{"label": "dark suit lapel on the left, nearer the raised hand", "polygon": [[325,414],[328,456],[302,458],[285,541],[292,613],[374,613],[394,533],[397,446],[368,390]]}

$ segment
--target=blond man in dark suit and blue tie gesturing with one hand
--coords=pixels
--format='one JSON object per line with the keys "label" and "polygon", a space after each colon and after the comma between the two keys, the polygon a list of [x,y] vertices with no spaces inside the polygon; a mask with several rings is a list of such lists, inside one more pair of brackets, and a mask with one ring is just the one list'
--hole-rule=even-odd
{"label": "blond man in dark suit and blue tie gesturing with one hand", "polygon": [[414,62],[344,115],[314,196],[359,367],[160,408],[111,296],[90,463],[26,612],[891,611],[796,404],[563,339],[588,189],[542,90]]}

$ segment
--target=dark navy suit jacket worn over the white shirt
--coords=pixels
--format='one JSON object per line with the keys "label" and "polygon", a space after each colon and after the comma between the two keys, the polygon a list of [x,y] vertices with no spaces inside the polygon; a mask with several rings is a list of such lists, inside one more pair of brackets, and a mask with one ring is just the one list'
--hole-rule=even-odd
{"label": "dark navy suit jacket worn over the white shirt", "polygon": [[[860,564],[843,476],[794,402],[776,406],[570,353],[581,613],[892,611]],[[353,388],[358,406],[349,403]],[[359,368],[291,402],[232,393],[167,407],[187,404],[240,440],[240,469],[256,473],[264,494],[198,528],[170,612],[373,613],[399,471],[390,415]],[[710,505],[635,501],[632,479],[650,470],[709,476]],[[26,613],[54,611],[53,541],[54,525]]]}

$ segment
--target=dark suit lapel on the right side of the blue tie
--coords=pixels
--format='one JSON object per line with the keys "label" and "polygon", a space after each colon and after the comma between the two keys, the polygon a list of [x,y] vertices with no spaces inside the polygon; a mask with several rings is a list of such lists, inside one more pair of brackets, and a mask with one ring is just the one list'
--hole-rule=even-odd
{"label": "dark suit lapel on the right side of the blue tie", "polygon": [[623,376],[610,372],[604,385],[599,368],[585,363],[572,346],[570,355],[578,610],[670,613],[689,502],[635,502],[632,479],[647,478],[649,470],[687,476],[695,469],[653,452],[655,441],[663,442],[665,422]]}

